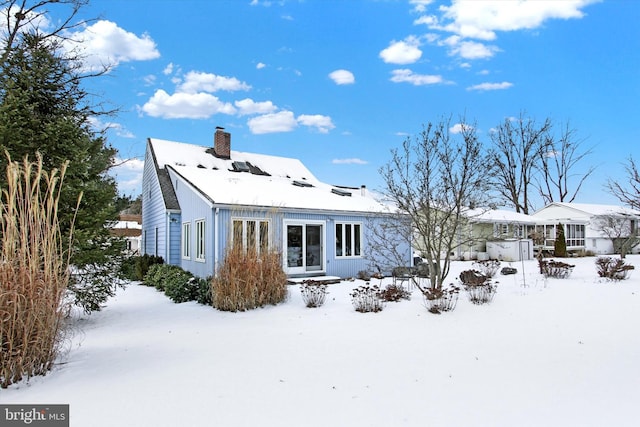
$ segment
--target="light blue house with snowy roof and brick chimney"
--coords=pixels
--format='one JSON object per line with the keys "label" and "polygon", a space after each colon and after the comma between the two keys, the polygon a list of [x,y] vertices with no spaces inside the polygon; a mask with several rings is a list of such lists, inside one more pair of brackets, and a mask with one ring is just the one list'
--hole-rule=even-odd
{"label": "light blue house with snowy roof and brick chimney", "polygon": [[[391,218],[365,186],[319,181],[299,160],[150,138],[145,154],[142,252],[214,275],[231,239],[275,248],[289,276],[370,271],[369,224]],[[406,244],[410,263],[410,242]]]}

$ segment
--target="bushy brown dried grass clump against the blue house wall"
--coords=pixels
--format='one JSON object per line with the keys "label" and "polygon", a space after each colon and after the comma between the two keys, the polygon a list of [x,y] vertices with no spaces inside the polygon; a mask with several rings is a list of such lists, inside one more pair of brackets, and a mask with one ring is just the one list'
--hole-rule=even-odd
{"label": "bushy brown dried grass clump against the blue house wall", "polygon": [[274,250],[258,253],[229,244],[220,271],[213,279],[212,304],[218,310],[245,311],[287,298],[282,256]]}

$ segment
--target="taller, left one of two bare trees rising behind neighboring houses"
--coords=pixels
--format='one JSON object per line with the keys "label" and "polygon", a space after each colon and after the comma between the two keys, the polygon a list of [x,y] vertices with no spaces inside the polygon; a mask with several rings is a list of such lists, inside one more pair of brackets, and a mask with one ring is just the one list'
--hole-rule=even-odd
{"label": "taller, left one of two bare trees rising behind neighboring houses", "polygon": [[550,129],[549,119],[537,124],[520,113],[517,119],[505,119],[490,134],[493,190],[516,212],[533,210],[532,187],[541,153],[547,151],[545,136]]}

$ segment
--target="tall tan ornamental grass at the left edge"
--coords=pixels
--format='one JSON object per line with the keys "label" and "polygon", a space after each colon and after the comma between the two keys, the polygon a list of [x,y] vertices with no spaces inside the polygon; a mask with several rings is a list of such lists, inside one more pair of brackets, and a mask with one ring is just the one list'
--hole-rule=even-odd
{"label": "tall tan ornamental grass at the left edge", "polygon": [[[66,165],[8,158],[0,230],[0,387],[45,375],[62,349],[70,310],[71,233],[62,236],[58,201]],[[71,227],[73,230],[73,227]]]}

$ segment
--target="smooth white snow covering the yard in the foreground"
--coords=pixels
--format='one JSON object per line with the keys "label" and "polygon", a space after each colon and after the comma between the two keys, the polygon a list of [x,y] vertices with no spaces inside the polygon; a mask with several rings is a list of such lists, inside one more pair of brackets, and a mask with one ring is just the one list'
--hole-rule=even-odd
{"label": "smooth white snow covering the yard in the foreground", "polygon": [[461,292],[442,315],[417,290],[358,313],[360,281],[330,285],[321,308],[295,285],[286,303],[243,313],[132,284],[75,321],[49,375],[0,401],[70,404],[73,427],[636,426],[640,271],[604,282],[594,260],[570,260],[566,280],[513,263],[493,303]]}

